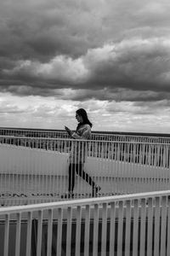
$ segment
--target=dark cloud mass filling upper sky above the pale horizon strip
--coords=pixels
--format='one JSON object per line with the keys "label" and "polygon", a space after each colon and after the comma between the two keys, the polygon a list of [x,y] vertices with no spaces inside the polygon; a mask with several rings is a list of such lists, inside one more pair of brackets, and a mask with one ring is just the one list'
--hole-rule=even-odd
{"label": "dark cloud mass filling upper sky above the pale horizon strip", "polygon": [[166,0],[3,0],[0,90],[74,101],[169,99],[169,9]]}

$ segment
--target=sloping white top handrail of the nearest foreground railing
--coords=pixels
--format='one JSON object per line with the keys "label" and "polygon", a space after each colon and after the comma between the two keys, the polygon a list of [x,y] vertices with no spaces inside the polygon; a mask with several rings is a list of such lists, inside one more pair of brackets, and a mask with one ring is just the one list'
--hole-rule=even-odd
{"label": "sloping white top handrail of the nearest foreground railing", "polygon": [[111,203],[113,201],[133,201],[141,198],[151,198],[151,197],[160,197],[170,195],[170,190],[164,191],[154,191],[154,192],[146,192],[146,193],[138,193],[138,194],[129,194],[129,195],[111,195],[104,196],[98,198],[87,198],[87,199],[77,199],[71,201],[57,201],[57,202],[48,202],[48,203],[39,203],[28,206],[14,206],[14,207],[2,207],[0,208],[0,214],[11,214],[17,212],[35,212],[35,211],[43,211],[48,208],[67,208],[67,207],[77,207],[77,206],[86,206],[86,205],[94,205],[94,204],[102,204],[102,203]]}

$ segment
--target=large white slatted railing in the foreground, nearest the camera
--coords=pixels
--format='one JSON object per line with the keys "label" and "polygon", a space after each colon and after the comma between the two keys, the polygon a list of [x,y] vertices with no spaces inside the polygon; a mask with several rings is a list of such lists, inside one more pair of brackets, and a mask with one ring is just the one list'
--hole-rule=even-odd
{"label": "large white slatted railing in the foreground, nearest the camera", "polygon": [[0,208],[2,256],[170,255],[170,190]]}

